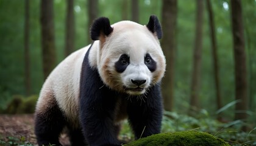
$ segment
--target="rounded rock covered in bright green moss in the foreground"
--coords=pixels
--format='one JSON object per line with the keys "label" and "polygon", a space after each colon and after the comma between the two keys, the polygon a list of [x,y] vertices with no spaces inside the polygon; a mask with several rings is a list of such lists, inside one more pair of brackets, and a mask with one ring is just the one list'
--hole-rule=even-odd
{"label": "rounded rock covered in bright green moss in the foreground", "polygon": [[226,142],[211,134],[198,131],[179,131],[174,133],[160,133],[138,139],[124,146],[228,146]]}

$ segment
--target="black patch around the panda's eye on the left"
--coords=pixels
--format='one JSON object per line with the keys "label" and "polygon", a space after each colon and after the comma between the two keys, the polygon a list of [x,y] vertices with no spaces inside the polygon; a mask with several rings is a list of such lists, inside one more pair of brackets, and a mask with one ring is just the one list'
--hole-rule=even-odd
{"label": "black patch around the panda's eye on the left", "polygon": [[124,72],[127,66],[130,64],[130,57],[127,54],[122,54],[119,60],[115,63],[117,72]]}

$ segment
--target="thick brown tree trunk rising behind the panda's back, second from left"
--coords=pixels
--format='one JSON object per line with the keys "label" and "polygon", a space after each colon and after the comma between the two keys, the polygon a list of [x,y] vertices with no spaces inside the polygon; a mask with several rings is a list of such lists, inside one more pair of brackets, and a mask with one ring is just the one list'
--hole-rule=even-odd
{"label": "thick brown tree trunk rising behind the panda's back, second from left", "polygon": [[41,0],[41,45],[44,80],[55,67],[54,15],[52,0]]}

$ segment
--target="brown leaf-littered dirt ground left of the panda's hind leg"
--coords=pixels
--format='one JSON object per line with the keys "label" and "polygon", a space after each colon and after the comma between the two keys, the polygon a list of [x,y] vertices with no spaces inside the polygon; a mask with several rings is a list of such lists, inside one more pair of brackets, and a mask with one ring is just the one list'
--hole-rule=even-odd
{"label": "brown leaf-littered dirt ground left of the panda's hind leg", "polygon": [[[33,114],[0,114],[0,140],[9,141],[7,137],[20,139],[25,137],[30,144],[37,145],[34,133],[34,115]],[[63,145],[69,145],[66,134],[60,136],[60,142]],[[1,144],[0,144],[1,145]]]}

